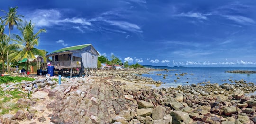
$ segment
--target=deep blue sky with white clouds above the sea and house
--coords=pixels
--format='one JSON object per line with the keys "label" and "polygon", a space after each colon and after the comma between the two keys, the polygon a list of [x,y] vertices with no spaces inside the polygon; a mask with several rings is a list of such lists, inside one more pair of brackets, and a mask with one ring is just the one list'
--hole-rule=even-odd
{"label": "deep blue sky with white clouds above the sea and house", "polygon": [[46,29],[38,48],[48,52],[91,43],[129,64],[256,67],[254,0],[5,0],[0,9],[15,6]]}

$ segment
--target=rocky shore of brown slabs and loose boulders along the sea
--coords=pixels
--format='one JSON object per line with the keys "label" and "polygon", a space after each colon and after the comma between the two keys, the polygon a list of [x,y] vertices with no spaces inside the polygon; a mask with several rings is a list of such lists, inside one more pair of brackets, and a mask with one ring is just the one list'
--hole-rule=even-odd
{"label": "rocky shore of brown slabs and loose boulders along the sea", "polygon": [[[3,124],[255,124],[254,83],[145,87],[132,74],[148,70],[98,72],[99,76],[55,77],[37,83],[28,110],[1,115]],[[131,75],[130,75],[131,74]],[[42,78],[42,77],[41,77]],[[118,80],[120,79],[120,80]],[[130,79],[130,80],[129,80]],[[138,84],[132,87],[135,81]],[[126,81],[126,82],[124,82]],[[130,84],[132,85],[130,85]],[[152,82],[150,82],[152,83]]]}

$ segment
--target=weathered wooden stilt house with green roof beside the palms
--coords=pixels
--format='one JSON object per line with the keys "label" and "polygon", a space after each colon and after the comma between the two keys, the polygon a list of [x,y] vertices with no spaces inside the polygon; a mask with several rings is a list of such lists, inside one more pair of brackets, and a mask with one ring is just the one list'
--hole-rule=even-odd
{"label": "weathered wooden stilt house with green roof beside the palms", "polygon": [[[46,58],[51,58],[51,66],[55,69],[70,69],[80,68],[97,68],[99,53],[91,44],[84,44],[72,47],[55,50],[46,55]],[[47,67],[47,63],[42,64],[42,67]],[[72,72],[70,72],[71,74]]]}

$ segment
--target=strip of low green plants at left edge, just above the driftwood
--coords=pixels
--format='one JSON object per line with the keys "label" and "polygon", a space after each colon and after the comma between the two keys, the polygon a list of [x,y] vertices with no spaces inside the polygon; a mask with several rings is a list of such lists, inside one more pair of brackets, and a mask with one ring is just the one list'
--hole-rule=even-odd
{"label": "strip of low green plants at left edge, just above the driftwood", "polygon": [[18,77],[18,76],[3,76],[0,77],[0,84],[2,83],[9,83],[9,82],[21,82],[21,81],[34,81],[34,78],[29,77]]}

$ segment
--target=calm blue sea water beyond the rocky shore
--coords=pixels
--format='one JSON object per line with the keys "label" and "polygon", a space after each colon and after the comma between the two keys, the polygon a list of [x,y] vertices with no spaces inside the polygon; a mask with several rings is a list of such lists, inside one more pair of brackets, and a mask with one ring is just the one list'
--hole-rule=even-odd
{"label": "calm blue sea water beyond the rocky shore", "polygon": [[[256,67],[169,67],[165,71],[153,71],[150,74],[142,74],[145,77],[151,77],[155,81],[162,81],[163,83],[158,86],[161,87],[177,87],[178,85],[191,85],[192,83],[231,83],[229,80],[244,80],[247,83],[256,83],[256,74],[238,74],[238,73],[225,73],[225,71],[232,70],[253,70],[256,71]],[[184,76],[175,75],[187,73]],[[162,74],[160,76],[156,74]],[[164,79],[163,75],[167,74]],[[179,79],[178,79],[179,78]],[[176,80],[176,82],[174,81]]]}

